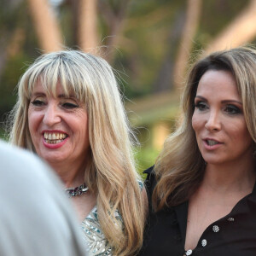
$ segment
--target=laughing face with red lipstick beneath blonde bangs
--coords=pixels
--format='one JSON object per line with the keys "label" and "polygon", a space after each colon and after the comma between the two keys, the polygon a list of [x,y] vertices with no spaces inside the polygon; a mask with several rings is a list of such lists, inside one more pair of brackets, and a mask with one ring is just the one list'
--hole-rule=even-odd
{"label": "laughing face with red lipstick beneath blonde bangs", "polygon": [[60,83],[56,97],[36,84],[28,108],[28,126],[37,154],[49,165],[82,165],[90,148],[87,111],[75,97],[64,96]]}

